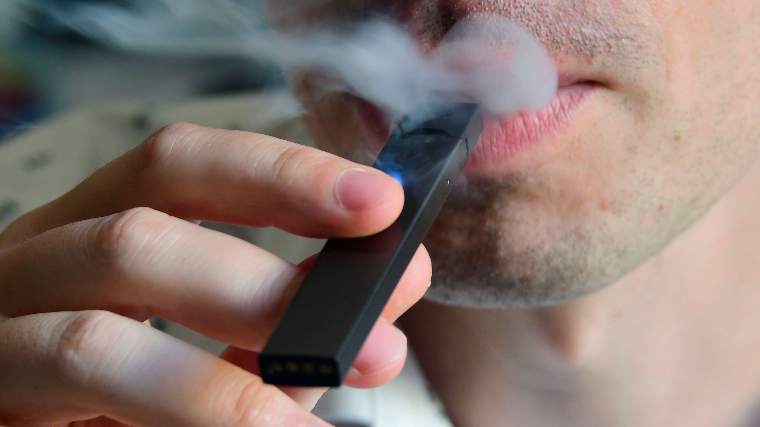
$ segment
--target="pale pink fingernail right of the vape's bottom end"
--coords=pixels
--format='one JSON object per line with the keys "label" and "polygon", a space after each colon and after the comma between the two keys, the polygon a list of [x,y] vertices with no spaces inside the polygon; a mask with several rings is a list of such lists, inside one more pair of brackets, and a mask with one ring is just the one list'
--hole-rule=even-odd
{"label": "pale pink fingernail right of the vape's bottom end", "polygon": [[353,368],[366,374],[392,365],[407,353],[407,336],[388,321],[379,320],[369,333]]}

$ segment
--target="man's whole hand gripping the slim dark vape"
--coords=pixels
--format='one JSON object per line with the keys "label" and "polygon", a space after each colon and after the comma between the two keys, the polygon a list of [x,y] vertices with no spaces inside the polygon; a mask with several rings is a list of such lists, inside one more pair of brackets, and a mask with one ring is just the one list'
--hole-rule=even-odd
{"label": "man's whole hand gripping the slim dark vape", "polygon": [[[199,220],[302,236],[365,236],[403,189],[367,166],[277,138],[179,123],[157,131],[0,234],[0,425],[311,426],[324,391],[263,384],[258,350],[300,265]],[[347,377],[401,370],[391,323],[426,290],[417,251]],[[158,315],[230,343],[217,357],[141,322]]]}

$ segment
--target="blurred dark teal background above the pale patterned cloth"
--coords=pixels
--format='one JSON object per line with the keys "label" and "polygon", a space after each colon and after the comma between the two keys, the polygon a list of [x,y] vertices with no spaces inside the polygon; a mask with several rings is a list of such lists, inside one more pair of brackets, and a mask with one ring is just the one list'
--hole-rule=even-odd
{"label": "blurred dark teal background above the pale patterned cloth", "polygon": [[[234,0],[233,0],[234,3]],[[238,1],[249,22],[255,0]],[[230,11],[201,0],[0,1],[0,144],[103,100],[170,103],[283,86],[245,55]],[[237,12],[237,11],[236,11]]]}

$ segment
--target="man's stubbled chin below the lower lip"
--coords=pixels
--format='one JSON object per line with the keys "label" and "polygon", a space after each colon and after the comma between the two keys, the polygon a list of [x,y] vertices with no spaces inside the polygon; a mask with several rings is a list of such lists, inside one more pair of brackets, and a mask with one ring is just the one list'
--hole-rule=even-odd
{"label": "man's stubbled chin below the lower lip", "polygon": [[450,199],[424,242],[432,259],[426,299],[481,308],[559,305],[609,286],[647,258],[599,218],[556,217],[553,204],[520,193],[502,187]]}

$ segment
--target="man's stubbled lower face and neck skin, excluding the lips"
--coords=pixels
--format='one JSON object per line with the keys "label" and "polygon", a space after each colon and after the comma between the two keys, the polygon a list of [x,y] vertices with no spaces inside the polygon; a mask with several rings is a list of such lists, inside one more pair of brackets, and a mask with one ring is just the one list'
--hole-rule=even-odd
{"label": "man's stubbled lower face and neck skin, excluding the lips", "polygon": [[[290,6],[277,4],[276,18]],[[404,327],[456,425],[737,425],[749,412],[758,6],[335,0],[301,15],[390,13],[432,49],[459,18],[505,14],[560,76],[597,83],[539,147],[468,168],[426,240],[432,287]],[[287,10],[282,25],[299,24]],[[350,98],[293,82],[320,147],[365,151]]]}

